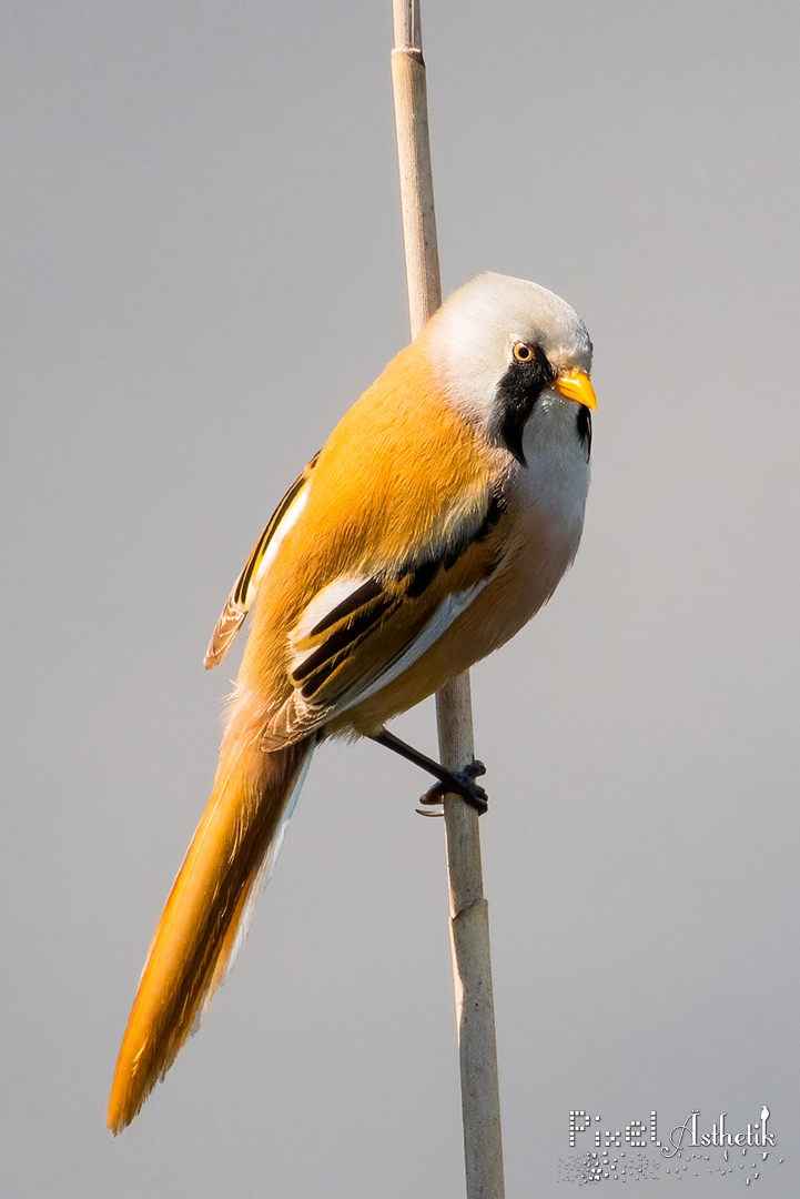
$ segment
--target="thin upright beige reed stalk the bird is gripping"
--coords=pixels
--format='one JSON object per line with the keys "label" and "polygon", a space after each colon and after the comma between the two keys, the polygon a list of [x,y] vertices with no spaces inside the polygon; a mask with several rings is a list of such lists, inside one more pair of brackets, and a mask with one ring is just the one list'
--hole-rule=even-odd
{"label": "thin upright beige reed stalk the bird is gripping", "polygon": [[[428,96],[419,0],[393,0],[392,82],[398,129],[402,231],[411,335],[442,302],[428,137]],[[469,674],[436,695],[440,754],[450,770],[473,757]],[[495,1004],[489,904],[483,893],[478,813],[457,795],[444,799],[450,892],[450,945],[461,1064],[461,1113],[467,1199],[503,1199]]]}

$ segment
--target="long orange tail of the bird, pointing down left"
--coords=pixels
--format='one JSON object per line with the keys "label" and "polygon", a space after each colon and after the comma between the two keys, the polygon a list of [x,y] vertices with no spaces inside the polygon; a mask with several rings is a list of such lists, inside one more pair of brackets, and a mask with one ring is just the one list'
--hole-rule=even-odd
{"label": "long orange tail of the bird, pointing down left", "polygon": [[224,739],[211,799],[158,922],[120,1047],[107,1115],[114,1133],[131,1123],[196,1028],[280,848],[314,739],[265,753],[261,723],[240,709]]}

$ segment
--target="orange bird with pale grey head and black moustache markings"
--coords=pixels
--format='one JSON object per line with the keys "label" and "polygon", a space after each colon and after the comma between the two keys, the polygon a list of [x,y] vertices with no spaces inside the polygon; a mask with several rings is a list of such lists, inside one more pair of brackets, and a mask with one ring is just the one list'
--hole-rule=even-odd
{"label": "orange bird with pale grey head and black moustache markings", "polygon": [[509,640],[575,559],[589,486],[592,342],[527,279],[459,288],[345,414],[256,541],[214,628],[250,615],[211,797],[158,922],[108,1104],[140,1110],[230,970],[313,753],[372,737],[479,812],[386,722]]}

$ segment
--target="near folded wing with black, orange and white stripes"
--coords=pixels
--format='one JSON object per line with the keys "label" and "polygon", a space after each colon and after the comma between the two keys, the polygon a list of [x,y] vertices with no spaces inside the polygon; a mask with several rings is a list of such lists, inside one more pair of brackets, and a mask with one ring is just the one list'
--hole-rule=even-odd
{"label": "near folded wing with black, orange and white stripes", "polygon": [[269,721],[263,749],[308,736],[380,691],[425,652],[502,562],[504,505],[487,486],[447,542],[414,547],[400,564],[323,586],[289,634],[290,697]]}

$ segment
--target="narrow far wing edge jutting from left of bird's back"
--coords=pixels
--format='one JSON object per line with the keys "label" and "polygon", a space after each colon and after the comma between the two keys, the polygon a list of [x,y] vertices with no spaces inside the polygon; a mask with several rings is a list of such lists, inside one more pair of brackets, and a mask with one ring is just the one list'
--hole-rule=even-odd
{"label": "narrow far wing edge jutting from left of bird's back", "polygon": [[281,541],[305,507],[309,495],[309,480],[319,457],[319,453],[315,454],[303,470],[303,474],[295,480],[250,550],[242,573],[234,584],[214,631],[211,634],[208,649],[204,658],[206,670],[213,670],[214,667],[219,665],[228,653],[231,641],[244,623],[244,617],[255,602],[261,580],[278,553]]}

